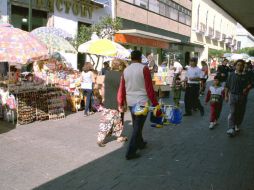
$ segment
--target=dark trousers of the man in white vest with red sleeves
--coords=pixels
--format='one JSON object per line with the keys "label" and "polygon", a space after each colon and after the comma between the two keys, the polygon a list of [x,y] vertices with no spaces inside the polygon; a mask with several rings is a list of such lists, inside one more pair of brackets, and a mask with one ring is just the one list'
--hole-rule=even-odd
{"label": "dark trousers of the man in white vest with red sleeves", "polygon": [[[132,107],[129,107],[129,108],[130,110],[132,110]],[[143,116],[143,115],[137,116],[131,113],[133,131],[132,131],[131,140],[129,142],[129,146],[126,152],[126,156],[135,154],[139,146],[141,146],[144,143],[142,130],[146,121],[146,117],[147,116]]]}

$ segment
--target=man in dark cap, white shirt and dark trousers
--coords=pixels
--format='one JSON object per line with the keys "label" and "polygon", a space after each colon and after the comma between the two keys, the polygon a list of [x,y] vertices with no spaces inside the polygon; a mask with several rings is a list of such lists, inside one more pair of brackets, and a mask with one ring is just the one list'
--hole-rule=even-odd
{"label": "man in dark cap, white shirt and dark trousers", "polygon": [[190,67],[188,67],[186,73],[186,91],[184,96],[185,114],[184,116],[192,115],[192,110],[198,108],[201,116],[204,115],[204,107],[199,100],[200,79],[202,77],[202,71],[197,67],[198,59],[196,57],[191,58]]}

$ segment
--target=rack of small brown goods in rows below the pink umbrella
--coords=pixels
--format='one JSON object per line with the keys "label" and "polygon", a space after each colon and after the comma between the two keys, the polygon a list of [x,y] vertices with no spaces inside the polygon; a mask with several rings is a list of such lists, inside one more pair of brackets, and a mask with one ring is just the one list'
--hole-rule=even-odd
{"label": "rack of small brown goods in rows below the pink umbrella", "polygon": [[18,91],[14,94],[17,99],[17,125],[65,118],[60,89],[47,87],[40,90]]}

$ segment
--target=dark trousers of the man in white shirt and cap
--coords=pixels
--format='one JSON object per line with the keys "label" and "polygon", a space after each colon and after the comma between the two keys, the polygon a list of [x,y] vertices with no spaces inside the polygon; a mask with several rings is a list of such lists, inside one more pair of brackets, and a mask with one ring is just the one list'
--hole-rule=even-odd
{"label": "dark trousers of the man in white shirt and cap", "polygon": [[199,100],[199,84],[187,84],[184,96],[185,112],[191,114],[192,109],[203,109]]}

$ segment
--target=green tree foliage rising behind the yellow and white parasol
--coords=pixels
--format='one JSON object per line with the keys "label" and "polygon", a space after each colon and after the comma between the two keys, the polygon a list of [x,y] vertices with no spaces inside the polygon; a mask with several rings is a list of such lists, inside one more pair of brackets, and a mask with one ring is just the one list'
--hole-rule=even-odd
{"label": "green tree foliage rising behind the yellow and white parasol", "polygon": [[91,40],[91,35],[95,32],[100,38],[112,39],[114,34],[122,28],[122,20],[120,18],[112,19],[110,16],[103,17],[100,22],[92,26],[82,25],[78,35],[72,42],[78,48],[82,43]]}

